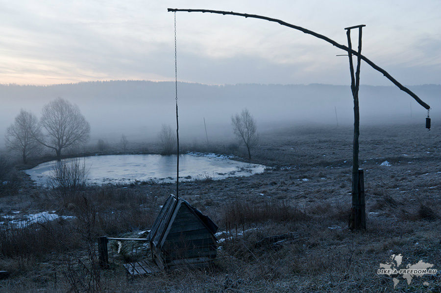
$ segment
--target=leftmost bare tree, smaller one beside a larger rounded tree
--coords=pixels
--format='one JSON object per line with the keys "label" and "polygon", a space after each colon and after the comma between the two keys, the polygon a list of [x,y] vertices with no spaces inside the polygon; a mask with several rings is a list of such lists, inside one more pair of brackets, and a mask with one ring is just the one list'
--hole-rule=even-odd
{"label": "leftmost bare tree, smaller one beside a larger rounded tree", "polygon": [[41,132],[37,117],[22,109],[15,117],[14,123],[6,130],[5,143],[9,149],[20,152],[25,164],[27,157],[40,148],[35,138],[38,136],[41,137]]}

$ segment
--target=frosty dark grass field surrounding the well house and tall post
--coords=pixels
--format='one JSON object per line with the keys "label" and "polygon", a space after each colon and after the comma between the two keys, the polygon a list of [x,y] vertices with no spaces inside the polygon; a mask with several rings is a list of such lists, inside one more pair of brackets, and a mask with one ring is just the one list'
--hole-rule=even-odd
{"label": "frosty dark grass field surrounding the well house and tall post", "polygon": [[[223,154],[230,149],[245,158],[243,149],[221,143],[186,147]],[[174,184],[46,190],[19,172],[16,192],[0,197],[0,216],[54,210],[76,218],[0,230],[0,270],[11,273],[0,280],[0,292],[391,292],[392,276],[376,272],[392,254],[402,254],[403,264],[423,260],[441,269],[440,128],[362,125],[366,231],[347,228],[350,126],[261,133],[251,162],[271,168],[179,185],[180,195],[224,231],[214,266],[137,278],[127,276],[122,264],[148,257],[147,248],[124,244],[121,253],[112,250],[111,268],[100,270],[97,237],[141,237]],[[285,241],[256,245],[287,233]],[[395,292],[441,291],[440,273],[414,277],[410,285],[399,280]]]}

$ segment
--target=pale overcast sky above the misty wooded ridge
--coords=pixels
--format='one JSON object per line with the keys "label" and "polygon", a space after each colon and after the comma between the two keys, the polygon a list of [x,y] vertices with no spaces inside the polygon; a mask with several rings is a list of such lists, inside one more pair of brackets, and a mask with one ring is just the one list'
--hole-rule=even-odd
{"label": "pale overcast sky above the misty wooded ridge", "polygon": [[[344,27],[366,24],[362,53],[370,60],[406,85],[441,83],[439,0],[0,0],[0,83],[173,80],[168,7],[265,15],[343,45]],[[237,16],[178,12],[176,18],[181,81],[350,82],[347,57],[335,56],[344,51],[300,31]],[[361,83],[392,85],[365,63]]]}

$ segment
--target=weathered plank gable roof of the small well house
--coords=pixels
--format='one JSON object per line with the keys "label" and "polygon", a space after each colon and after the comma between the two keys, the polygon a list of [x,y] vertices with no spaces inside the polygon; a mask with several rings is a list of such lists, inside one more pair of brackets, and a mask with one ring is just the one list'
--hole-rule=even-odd
{"label": "weathered plank gable roof of the small well house", "polygon": [[176,200],[174,195],[170,195],[166,203],[162,206],[158,217],[153,224],[150,233],[148,234],[148,240],[152,245],[157,248],[162,248],[167,235],[170,232],[172,223],[181,208],[181,206],[187,206],[191,213],[195,216],[195,221],[200,221],[209,233],[216,239],[214,234],[218,230],[218,226],[207,216],[203,215],[198,209],[193,207],[187,201],[179,198]]}

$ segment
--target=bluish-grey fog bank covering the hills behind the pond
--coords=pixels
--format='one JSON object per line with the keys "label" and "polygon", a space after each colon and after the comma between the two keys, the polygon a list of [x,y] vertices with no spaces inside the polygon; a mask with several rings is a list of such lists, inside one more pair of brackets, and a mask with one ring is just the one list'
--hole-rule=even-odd
{"label": "bluish-grey fog bank covering the hills behind the pond", "polygon": [[[409,87],[439,118],[440,85]],[[155,141],[162,124],[175,127],[174,83],[150,81],[83,82],[52,86],[0,86],[0,136],[23,108],[41,116],[43,106],[62,97],[77,104],[91,125],[90,143],[109,143],[121,135],[129,141]],[[421,123],[427,111],[394,86],[360,87],[360,124]],[[310,85],[203,85],[178,84],[180,138],[204,141],[203,118],[209,139],[232,138],[231,115],[247,108],[258,130],[284,125],[339,125],[353,123],[349,86]],[[422,126],[423,127],[423,126]],[[436,126],[435,126],[436,127]],[[0,139],[3,146],[4,141]]]}

